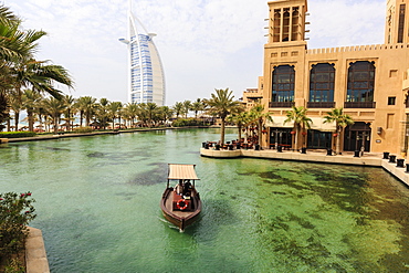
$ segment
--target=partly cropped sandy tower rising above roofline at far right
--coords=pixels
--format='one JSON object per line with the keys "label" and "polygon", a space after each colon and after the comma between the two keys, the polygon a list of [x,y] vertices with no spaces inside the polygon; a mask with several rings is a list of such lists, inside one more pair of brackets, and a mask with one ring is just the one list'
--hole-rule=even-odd
{"label": "partly cropped sandy tower rising above roofline at far right", "polygon": [[385,43],[409,43],[409,0],[388,0]]}

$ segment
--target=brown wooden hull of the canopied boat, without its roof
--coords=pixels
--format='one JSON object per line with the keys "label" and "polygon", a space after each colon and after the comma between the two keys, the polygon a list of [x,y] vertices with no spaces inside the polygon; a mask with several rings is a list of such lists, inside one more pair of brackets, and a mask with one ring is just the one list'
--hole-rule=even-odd
{"label": "brown wooden hull of the canopied boat, without its roof", "polygon": [[175,211],[174,201],[174,188],[167,188],[160,200],[160,209],[166,220],[178,227],[180,231],[183,231],[186,227],[197,220],[201,211],[200,196],[196,189],[192,189],[190,201],[193,209],[188,211]]}

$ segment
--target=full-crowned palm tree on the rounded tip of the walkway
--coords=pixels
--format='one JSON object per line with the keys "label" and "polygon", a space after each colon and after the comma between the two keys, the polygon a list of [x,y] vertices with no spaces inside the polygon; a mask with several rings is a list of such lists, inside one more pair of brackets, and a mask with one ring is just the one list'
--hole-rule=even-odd
{"label": "full-crowned palm tree on the rounded tip of the walkway", "polygon": [[220,130],[220,144],[224,144],[224,126],[226,118],[237,111],[241,104],[238,101],[233,101],[233,91],[226,90],[214,90],[216,94],[211,94],[211,98],[207,102],[209,105],[209,113],[213,116],[218,116],[221,119],[221,130]]}

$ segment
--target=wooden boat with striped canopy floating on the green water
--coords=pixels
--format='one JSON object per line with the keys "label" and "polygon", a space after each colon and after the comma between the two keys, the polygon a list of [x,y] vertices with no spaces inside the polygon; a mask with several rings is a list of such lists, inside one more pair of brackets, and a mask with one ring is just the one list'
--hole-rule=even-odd
{"label": "wooden boat with striped canopy floating on the green water", "polygon": [[[160,200],[165,218],[183,231],[193,223],[201,211],[199,192],[195,181],[200,180],[195,171],[196,165],[169,164],[168,183]],[[175,187],[170,181],[175,180]]]}

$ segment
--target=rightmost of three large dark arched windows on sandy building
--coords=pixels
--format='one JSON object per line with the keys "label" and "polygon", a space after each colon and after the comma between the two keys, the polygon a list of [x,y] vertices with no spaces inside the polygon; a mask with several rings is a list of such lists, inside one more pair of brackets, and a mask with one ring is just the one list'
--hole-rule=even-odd
{"label": "rightmost of three large dark arched windows on sandy building", "polygon": [[374,62],[358,61],[348,69],[348,91],[346,102],[374,102],[375,65]]}

